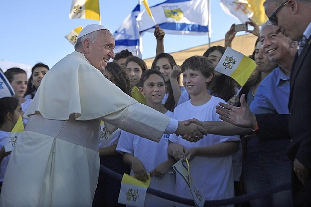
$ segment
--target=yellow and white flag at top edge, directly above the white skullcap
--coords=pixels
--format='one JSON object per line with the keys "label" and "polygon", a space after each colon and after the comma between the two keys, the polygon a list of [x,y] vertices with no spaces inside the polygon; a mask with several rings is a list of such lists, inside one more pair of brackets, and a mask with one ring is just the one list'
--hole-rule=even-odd
{"label": "yellow and white flag at top edge, directly above the white skullcap", "polygon": [[101,20],[98,0],[72,0],[69,18]]}

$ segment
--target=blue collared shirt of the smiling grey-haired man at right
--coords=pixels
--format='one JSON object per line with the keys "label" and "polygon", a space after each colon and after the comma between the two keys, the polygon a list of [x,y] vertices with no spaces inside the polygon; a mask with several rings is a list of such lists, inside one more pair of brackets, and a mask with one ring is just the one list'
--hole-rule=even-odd
{"label": "blue collared shirt of the smiling grey-haired man at right", "polygon": [[277,67],[257,88],[250,109],[254,114],[289,114],[290,77]]}

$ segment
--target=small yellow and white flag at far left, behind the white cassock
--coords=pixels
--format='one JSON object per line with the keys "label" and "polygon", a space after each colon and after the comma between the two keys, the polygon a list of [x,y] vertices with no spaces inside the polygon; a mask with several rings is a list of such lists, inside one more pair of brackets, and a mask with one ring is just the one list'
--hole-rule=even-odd
{"label": "small yellow and white flag at far left, behind the white cassock", "polygon": [[5,140],[4,149],[5,152],[11,152],[16,145],[18,136],[24,131],[23,119],[18,117],[16,124],[14,125],[9,137]]}

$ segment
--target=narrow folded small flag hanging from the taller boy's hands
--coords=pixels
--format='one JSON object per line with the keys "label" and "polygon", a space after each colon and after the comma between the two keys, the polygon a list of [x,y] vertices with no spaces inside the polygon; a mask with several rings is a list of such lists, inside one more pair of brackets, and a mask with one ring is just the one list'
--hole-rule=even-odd
{"label": "narrow folded small flag hanging from the taller boy's hands", "polygon": [[180,159],[173,165],[173,169],[176,171],[176,173],[180,174],[180,176],[185,180],[186,184],[188,185],[195,206],[203,207],[205,203],[205,196],[201,193],[202,191],[193,182],[192,176],[190,174],[190,166],[188,160],[186,159],[186,161],[183,161],[183,159]]}

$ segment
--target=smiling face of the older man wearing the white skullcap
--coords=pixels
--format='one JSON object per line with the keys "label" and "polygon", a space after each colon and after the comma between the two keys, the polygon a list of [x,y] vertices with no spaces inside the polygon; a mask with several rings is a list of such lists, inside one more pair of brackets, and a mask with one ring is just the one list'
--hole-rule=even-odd
{"label": "smiling face of the older man wearing the white skullcap", "polygon": [[108,30],[99,30],[98,33],[98,38],[89,44],[90,53],[87,59],[92,66],[104,72],[107,62],[115,57],[113,52],[115,40]]}

